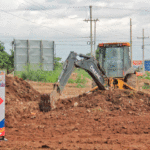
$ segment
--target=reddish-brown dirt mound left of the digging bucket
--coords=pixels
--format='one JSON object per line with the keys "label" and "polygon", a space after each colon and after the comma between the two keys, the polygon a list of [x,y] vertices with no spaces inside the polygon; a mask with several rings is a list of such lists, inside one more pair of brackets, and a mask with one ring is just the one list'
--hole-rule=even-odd
{"label": "reddish-brown dirt mound left of the digging bucket", "polygon": [[17,123],[17,118],[28,117],[38,111],[40,93],[18,77],[6,76],[6,127]]}

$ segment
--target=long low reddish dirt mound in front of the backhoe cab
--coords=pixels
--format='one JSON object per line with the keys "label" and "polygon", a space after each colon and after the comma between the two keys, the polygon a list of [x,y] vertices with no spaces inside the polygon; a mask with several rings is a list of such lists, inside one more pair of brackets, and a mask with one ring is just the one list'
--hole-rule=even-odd
{"label": "long low reddish dirt mound in front of the backhoe cab", "polygon": [[130,90],[96,91],[78,97],[61,99],[57,109],[70,107],[98,108],[101,111],[126,111],[128,113],[149,111],[150,95]]}

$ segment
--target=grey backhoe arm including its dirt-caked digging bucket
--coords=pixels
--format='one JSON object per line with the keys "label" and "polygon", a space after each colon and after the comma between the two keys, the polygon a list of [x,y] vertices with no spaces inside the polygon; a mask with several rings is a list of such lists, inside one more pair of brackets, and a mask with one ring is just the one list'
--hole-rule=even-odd
{"label": "grey backhoe arm including its dirt-caked digging bucket", "polygon": [[[77,56],[81,58],[81,60],[77,59]],[[100,90],[105,90],[104,87],[104,75],[105,72],[100,67],[99,63],[94,57],[86,56],[83,54],[77,55],[75,52],[70,52],[68,58],[66,59],[63,70],[58,78],[57,83],[53,86],[53,91],[50,96],[43,95],[40,101],[40,110],[41,111],[49,111],[51,109],[56,108],[55,103],[59,99],[59,94],[63,91],[71,73],[74,68],[82,68],[93,78],[95,83],[97,84]]]}

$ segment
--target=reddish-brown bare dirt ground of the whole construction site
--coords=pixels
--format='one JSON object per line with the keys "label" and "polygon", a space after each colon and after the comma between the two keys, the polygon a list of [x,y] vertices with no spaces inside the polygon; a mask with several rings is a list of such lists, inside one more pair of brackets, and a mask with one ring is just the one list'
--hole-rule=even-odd
{"label": "reddish-brown bare dirt ground of the whole construction site", "polygon": [[6,76],[6,136],[0,150],[148,150],[150,149],[150,95],[140,91],[91,89],[67,84],[57,108],[39,111],[40,95],[52,83],[24,81]]}

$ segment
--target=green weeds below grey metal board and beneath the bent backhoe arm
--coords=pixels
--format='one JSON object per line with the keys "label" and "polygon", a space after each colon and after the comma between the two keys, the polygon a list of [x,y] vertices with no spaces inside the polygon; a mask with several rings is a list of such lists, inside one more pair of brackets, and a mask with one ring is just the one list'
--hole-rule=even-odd
{"label": "green weeds below grey metal board and beneath the bent backhoe arm", "polygon": [[[62,67],[58,67],[54,71],[44,71],[41,69],[33,70],[31,66],[24,67],[25,71],[16,71],[15,76],[22,78],[23,80],[31,80],[31,81],[40,81],[40,82],[57,82],[61,72]],[[68,83],[77,83],[76,87],[84,88],[87,82],[86,78],[91,79],[91,76],[83,69],[75,69],[75,73],[77,73],[77,78],[75,80],[69,79]]]}

